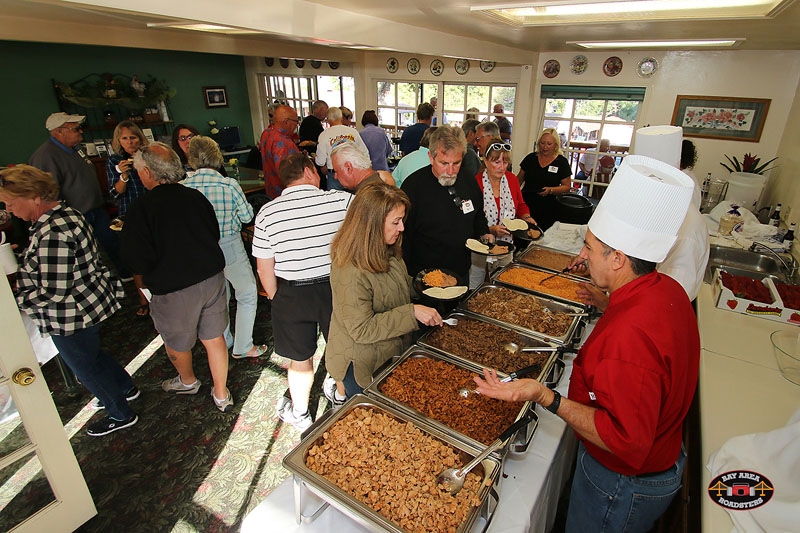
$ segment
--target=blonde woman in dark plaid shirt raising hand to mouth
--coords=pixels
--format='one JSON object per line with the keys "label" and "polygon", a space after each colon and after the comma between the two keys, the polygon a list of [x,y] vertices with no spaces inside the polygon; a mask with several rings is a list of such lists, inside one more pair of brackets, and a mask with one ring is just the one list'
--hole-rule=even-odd
{"label": "blonde woman in dark plaid shirt raising hand to mouth", "polygon": [[[139,148],[147,146],[149,141],[144,136],[141,128],[131,120],[123,120],[114,128],[111,148],[114,153],[106,161],[106,175],[108,176],[108,192],[117,202],[119,216],[124,217],[128,207],[138,197],[147,192],[139,173],[133,168],[133,155]],[[150,304],[147,303],[141,289],[144,287],[141,276],[133,276],[136,292],[139,295],[139,308],[136,310],[138,318],[147,318],[150,315]]]}

